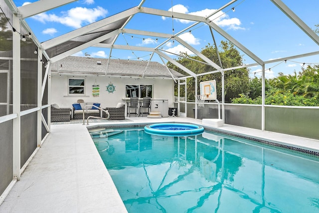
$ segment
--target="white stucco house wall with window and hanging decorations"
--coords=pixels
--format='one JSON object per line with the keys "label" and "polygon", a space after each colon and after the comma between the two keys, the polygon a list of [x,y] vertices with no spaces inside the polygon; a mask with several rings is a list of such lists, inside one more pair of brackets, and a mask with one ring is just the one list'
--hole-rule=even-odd
{"label": "white stucco house wall with window and hanging decorations", "polygon": [[[85,96],[73,95],[68,96],[68,79],[69,78],[84,78],[85,79]],[[92,85],[100,85],[99,97],[93,97]],[[115,86],[115,91],[109,93],[106,89],[110,83]],[[136,79],[136,78],[109,78],[106,76],[51,76],[51,104],[58,104],[60,107],[72,107],[78,99],[83,99],[84,102],[100,103],[102,108],[115,107],[119,102],[126,103],[125,100],[125,85],[153,85],[154,99],[167,99],[168,107],[173,107],[174,98],[174,82],[173,80],[164,79]]]}

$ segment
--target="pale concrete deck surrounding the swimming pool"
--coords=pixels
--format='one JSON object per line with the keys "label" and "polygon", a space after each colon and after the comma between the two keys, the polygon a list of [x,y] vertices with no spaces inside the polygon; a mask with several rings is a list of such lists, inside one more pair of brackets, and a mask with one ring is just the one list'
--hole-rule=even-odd
{"label": "pale concrete deck surrounding the swimming pool", "polygon": [[[138,124],[153,122],[190,122],[183,117],[129,117],[131,121],[103,124]],[[94,126],[90,123],[89,126]],[[218,130],[265,138],[291,146],[319,151],[319,140],[257,129],[224,125]],[[0,205],[0,213],[126,213],[127,210],[82,124],[51,125],[51,134]]]}

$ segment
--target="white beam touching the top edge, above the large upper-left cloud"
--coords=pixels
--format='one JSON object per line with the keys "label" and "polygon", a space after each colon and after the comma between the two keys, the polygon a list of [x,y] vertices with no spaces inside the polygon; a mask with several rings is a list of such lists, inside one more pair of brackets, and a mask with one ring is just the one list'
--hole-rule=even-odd
{"label": "white beam touching the top edge, above the large upper-left cloud", "polygon": [[77,0],[38,0],[18,7],[18,11],[22,18],[27,18],[73,1]]}

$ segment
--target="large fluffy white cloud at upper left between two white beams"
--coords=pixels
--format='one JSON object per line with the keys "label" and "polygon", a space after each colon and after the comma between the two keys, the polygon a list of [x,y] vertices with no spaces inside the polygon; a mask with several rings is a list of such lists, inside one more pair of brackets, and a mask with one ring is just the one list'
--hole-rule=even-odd
{"label": "large fluffy white cloud at upper left between two white beams", "polygon": [[80,28],[84,24],[90,24],[98,17],[105,17],[108,11],[100,6],[96,8],[74,7],[62,12],[61,16],[56,14],[40,13],[32,18],[42,22],[57,22],[73,28]]}

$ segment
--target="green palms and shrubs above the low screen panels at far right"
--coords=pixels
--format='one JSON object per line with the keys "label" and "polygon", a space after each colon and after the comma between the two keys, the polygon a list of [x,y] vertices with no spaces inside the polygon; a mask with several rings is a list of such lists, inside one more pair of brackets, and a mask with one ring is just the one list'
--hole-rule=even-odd
{"label": "green palms and shrubs above the low screen panels at far right", "polygon": [[[261,78],[250,81],[250,91],[232,100],[234,104],[261,104]],[[297,74],[265,81],[265,104],[282,106],[319,106],[319,65],[302,68]]]}

